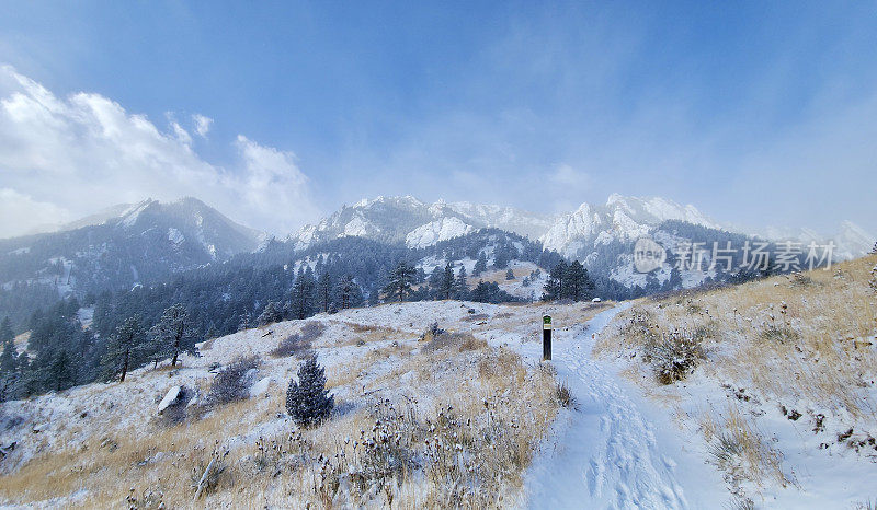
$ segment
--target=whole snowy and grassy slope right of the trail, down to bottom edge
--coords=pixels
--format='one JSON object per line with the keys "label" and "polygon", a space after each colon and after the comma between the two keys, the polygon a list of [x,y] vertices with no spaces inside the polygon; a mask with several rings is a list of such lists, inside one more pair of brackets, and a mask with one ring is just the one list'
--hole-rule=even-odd
{"label": "whole snowy and grassy slope right of the trail, down to bottom edge", "polygon": [[[872,508],[875,264],[870,256],[828,271],[638,300],[607,326],[597,359],[674,417],[686,448],[721,471],[736,505]],[[679,337],[703,355],[676,349],[674,362],[692,366],[661,384],[661,346]]]}

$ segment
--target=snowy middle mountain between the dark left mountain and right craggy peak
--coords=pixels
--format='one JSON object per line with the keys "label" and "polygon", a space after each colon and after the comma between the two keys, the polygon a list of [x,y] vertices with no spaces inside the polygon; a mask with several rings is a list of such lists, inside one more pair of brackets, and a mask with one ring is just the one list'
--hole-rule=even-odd
{"label": "snowy middle mountain between the dark left mountain and right craggy peak", "polygon": [[345,236],[423,247],[488,227],[535,240],[551,221],[549,216],[511,207],[443,200],[425,204],[411,196],[381,196],[344,206],[316,225],[301,228],[289,239],[299,250]]}

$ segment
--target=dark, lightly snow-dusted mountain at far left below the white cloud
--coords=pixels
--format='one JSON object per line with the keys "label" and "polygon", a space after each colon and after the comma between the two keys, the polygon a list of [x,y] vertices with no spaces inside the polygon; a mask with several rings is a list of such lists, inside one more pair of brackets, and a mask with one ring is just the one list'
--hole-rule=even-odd
{"label": "dark, lightly snow-dusted mountain at far left below the white cloud", "polygon": [[43,283],[60,294],[129,288],[251,252],[263,239],[195,198],[119,209],[73,230],[0,240],[0,285]]}

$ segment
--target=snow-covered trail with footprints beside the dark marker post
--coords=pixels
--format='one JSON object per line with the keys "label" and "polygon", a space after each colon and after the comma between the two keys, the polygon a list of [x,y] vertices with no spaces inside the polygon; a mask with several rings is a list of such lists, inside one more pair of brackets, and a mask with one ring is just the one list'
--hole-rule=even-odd
{"label": "snow-covered trail with footprints beside the dark marker post", "polygon": [[[721,477],[685,451],[667,412],[591,358],[592,335],[625,308],[555,331],[553,363],[578,409],[561,413],[527,473],[529,508],[713,508],[727,500]],[[521,353],[537,358],[542,346],[522,345]]]}

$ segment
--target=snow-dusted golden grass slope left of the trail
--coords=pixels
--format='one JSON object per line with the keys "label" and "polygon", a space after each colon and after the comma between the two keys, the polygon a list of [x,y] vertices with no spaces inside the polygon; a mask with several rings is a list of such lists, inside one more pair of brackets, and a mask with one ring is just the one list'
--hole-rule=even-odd
{"label": "snow-dusted golden grass slope left of the trail", "polygon": [[[357,332],[386,333],[371,327]],[[312,429],[299,430],[278,418],[285,416],[286,389],[276,384],[266,397],[203,415],[190,410],[175,426],[152,417],[129,433],[101,434],[89,424],[92,436],[83,444],[46,443],[42,453],[4,476],[0,501],[71,508],[509,506],[517,499],[523,472],[556,415],[554,379],[468,333],[454,338],[431,350],[412,341],[366,346],[354,362],[332,367],[327,375],[329,386],[342,395],[338,413]],[[285,380],[295,371],[295,363],[285,360],[265,363],[288,364],[285,373],[274,372]],[[167,378],[149,371],[132,381],[156,376]],[[206,394],[208,380],[196,385]],[[148,394],[137,395],[151,402]],[[361,438],[386,412],[379,405],[389,402],[405,410],[394,422],[410,431],[402,447],[419,461],[377,476],[366,467],[379,459],[364,453]],[[441,427],[431,431],[436,425]],[[71,424],[64,433],[83,433],[84,426]],[[360,440],[358,449],[352,440]],[[440,442],[452,450],[435,450]],[[456,453],[448,453],[455,444],[465,451],[468,470],[460,471]],[[224,470],[194,501],[193,485],[214,457]],[[348,474],[354,468],[360,478]],[[373,487],[361,484],[362,473]],[[70,495],[78,496],[53,501]]]}

